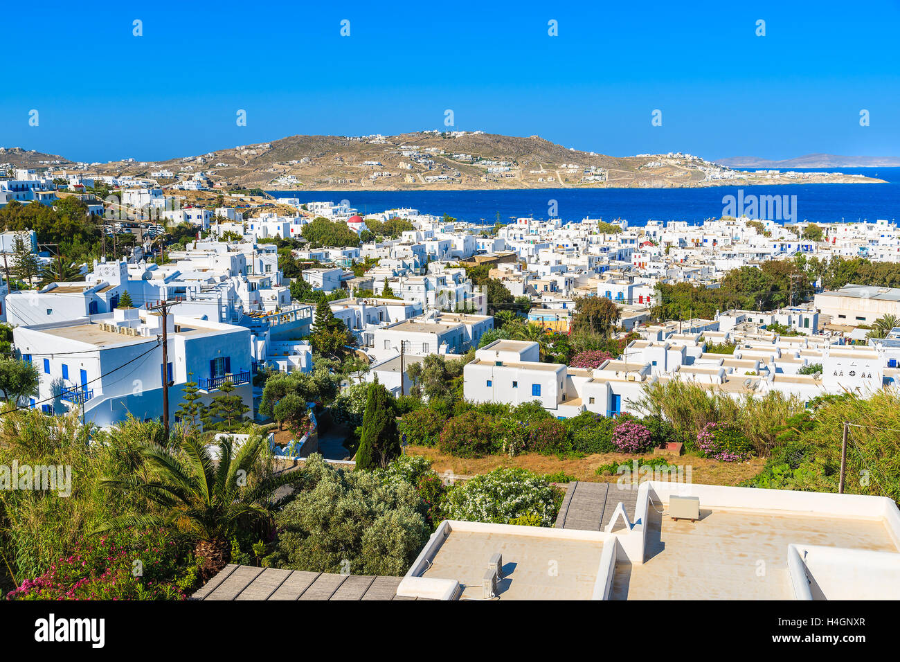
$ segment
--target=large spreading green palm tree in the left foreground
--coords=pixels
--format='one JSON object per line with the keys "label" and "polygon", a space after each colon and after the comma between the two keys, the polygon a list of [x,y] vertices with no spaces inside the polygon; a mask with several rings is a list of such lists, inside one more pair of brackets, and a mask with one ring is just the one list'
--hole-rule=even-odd
{"label": "large spreading green palm tree in the left foreground", "polygon": [[[273,515],[291,498],[275,491],[301,477],[298,472],[275,475],[262,469],[266,438],[254,435],[234,451],[231,438],[219,441],[219,457],[193,436],[179,441],[179,449],[138,441],[148,471],[104,477],[101,485],[144,495],[161,506],[150,514],[125,514],[105,521],[94,533],[130,526],[163,527],[194,541],[203,579],[229,562],[231,538],[247,529],[266,531]],[[251,477],[254,480],[251,480]]]}

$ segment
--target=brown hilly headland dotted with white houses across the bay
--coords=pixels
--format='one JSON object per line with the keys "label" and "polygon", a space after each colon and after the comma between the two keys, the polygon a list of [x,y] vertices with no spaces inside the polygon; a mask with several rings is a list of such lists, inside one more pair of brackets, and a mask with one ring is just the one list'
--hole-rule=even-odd
{"label": "brown hilly headland dotted with white houses across the bay", "polygon": [[297,135],[155,162],[122,159],[85,163],[21,148],[0,148],[0,167],[3,166],[132,176],[163,188],[184,187],[181,183],[190,181],[192,186],[199,183],[204,188],[221,190],[260,188],[298,193],[882,181],[842,173],[745,172],[682,152],[613,157],[563,147],[539,136],[515,137],[484,131],[415,131],[396,136]]}

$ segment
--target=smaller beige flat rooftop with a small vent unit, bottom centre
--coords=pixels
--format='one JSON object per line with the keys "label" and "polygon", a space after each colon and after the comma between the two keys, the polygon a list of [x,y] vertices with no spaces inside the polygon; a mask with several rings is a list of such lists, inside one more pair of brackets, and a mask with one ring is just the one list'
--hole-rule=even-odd
{"label": "smaller beige flat rooftop with a small vent unit, bottom centre", "polygon": [[[500,600],[590,600],[602,540],[567,540],[518,533],[451,531],[422,576],[455,579],[460,599],[482,598],[482,577],[494,552],[503,557]],[[556,562],[558,574],[547,571]]]}

